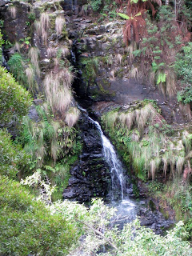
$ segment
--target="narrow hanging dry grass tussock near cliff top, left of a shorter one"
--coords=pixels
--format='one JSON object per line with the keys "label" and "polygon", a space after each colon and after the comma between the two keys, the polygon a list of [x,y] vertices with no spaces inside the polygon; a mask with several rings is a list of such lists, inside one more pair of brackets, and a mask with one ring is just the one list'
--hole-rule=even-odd
{"label": "narrow hanging dry grass tussock near cliff top, left of a shorter one", "polygon": [[50,28],[50,17],[47,13],[42,13],[40,20],[35,22],[37,33],[42,37],[42,42],[47,44],[47,33]]}

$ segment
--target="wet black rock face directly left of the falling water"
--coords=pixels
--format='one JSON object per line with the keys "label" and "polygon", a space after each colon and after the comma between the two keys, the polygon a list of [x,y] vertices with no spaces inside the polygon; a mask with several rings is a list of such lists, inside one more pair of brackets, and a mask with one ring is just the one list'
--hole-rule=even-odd
{"label": "wet black rock face directly left of the falling water", "polygon": [[110,174],[102,158],[102,139],[97,128],[86,116],[80,119],[83,150],[78,165],[70,170],[69,186],[63,198],[88,202],[93,197],[105,197],[110,183]]}

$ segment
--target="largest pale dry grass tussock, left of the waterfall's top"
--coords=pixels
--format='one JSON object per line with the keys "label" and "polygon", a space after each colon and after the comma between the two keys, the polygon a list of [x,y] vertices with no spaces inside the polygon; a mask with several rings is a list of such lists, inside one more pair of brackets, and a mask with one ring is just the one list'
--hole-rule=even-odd
{"label": "largest pale dry grass tussock, left of the waterfall's top", "polygon": [[46,75],[43,84],[46,91],[46,98],[50,106],[52,106],[53,111],[56,110],[64,114],[70,106],[72,101],[70,91],[71,82],[72,75],[68,70],[62,70],[57,74],[51,72]]}

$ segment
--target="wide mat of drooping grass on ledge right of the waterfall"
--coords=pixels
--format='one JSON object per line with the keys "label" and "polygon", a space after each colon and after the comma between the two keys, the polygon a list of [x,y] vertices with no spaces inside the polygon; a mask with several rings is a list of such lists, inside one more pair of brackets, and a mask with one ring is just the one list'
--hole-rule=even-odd
{"label": "wide mat of drooping grass on ledge right of the waterfall", "polygon": [[192,155],[191,136],[186,130],[180,139],[166,135],[159,130],[163,122],[154,126],[158,115],[154,106],[148,103],[132,111],[111,111],[104,115],[103,121],[107,128],[122,130],[123,137],[130,138],[126,146],[138,172],[147,170],[149,177],[154,179],[161,168],[165,177],[167,170],[176,177],[182,174],[186,160]]}

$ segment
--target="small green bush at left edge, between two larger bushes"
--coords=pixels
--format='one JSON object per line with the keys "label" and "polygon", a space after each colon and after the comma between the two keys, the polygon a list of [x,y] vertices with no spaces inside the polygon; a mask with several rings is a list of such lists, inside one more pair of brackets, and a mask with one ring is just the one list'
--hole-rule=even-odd
{"label": "small green bush at left edge, between two larger bushes", "polygon": [[0,130],[0,174],[16,178],[18,170],[29,161],[29,156],[20,145],[15,145],[6,130]]}

